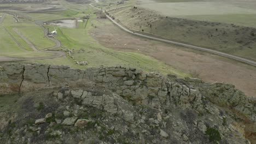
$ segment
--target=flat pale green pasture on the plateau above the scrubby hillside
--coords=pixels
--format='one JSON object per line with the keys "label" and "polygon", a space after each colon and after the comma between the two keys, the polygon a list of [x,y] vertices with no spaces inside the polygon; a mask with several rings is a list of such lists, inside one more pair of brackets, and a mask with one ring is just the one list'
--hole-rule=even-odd
{"label": "flat pale green pasture on the plateau above the scrubby hillside", "polygon": [[142,2],[141,7],[166,16],[256,27],[256,1]]}

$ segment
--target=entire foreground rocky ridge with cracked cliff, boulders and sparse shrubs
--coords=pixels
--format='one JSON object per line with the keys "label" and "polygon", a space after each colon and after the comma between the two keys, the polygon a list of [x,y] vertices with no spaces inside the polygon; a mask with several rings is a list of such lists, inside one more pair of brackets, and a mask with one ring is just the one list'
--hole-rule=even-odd
{"label": "entire foreground rocky ridge with cracked cliff, boulders and sparse shrubs", "polygon": [[[3,122],[3,131],[12,123],[25,125],[15,127],[20,133],[36,131],[33,139],[10,135],[13,142],[68,143],[74,137],[67,132],[71,129],[82,143],[88,142],[86,137],[95,143],[249,143],[241,122],[256,121],[256,100],[228,83],[168,79],[120,66],[78,70],[9,63],[0,68],[1,95],[20,93],[26,101],[33,92],[48,95],[56,107],[27,113],[34,116],[31,125],[15,119]],[[20,121],[26,118],[22,115]],[[56,125],[65,126],[56,129]],[[4,133],[2,137],[8,140]]]}

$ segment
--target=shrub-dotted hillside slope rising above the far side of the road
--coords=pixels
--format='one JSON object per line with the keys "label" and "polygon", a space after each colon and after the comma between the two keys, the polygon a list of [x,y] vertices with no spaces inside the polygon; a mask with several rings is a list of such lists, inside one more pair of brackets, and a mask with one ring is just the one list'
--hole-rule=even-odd
{"label": "shrub-dotted hillside slope rising above the far side of the road", "polygon": [[202,46],[256,61],[256,28],[228,23],[168,17],[131,4],[112,5],[107,12],[121,25],[145,34]]}

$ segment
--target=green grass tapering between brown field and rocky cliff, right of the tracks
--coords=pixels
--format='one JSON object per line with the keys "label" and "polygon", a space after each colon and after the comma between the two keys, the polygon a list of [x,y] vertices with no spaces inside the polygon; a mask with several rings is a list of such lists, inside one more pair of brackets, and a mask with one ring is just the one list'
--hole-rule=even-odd
{"label": "green grass tapering between brown field and rocky cliff, right of the tracks", "polygon": [[[56,38],[62,41],[62,45],[65,47],[62,49],[66,50],[71,49],[72,47],[72,56],[75,57],[75,61],[86,61],[89,63],[89,67],[97,67],[99,65],[124,65],[126,67],[136,67],[146,71],[155,71],[163,74],[176,74],[179,77],[189,76],[189,74],[185,74],[179,70],[173,69],[172,67],[152,57],[132,52],[114,51],[103,47],[88,34],[90,29],[99,25],[104,25],[104,23],[89,20],[86,28],[81,27],[74,29],[59,27],[57,29],[58,34]],[[48,27],[53,28],[51,26]],[[63,59],[63,61],[59,61],[61,64],[65,64],[66,62],[71,65],[71,67],[77,68],[77,65],[73,62],[67,62],[67,59],[64,58],[60,59]],[[49,61],[47,60],[38,61],[49,64]],[[79,68],[81,67],[86,66],[79,66]]]}

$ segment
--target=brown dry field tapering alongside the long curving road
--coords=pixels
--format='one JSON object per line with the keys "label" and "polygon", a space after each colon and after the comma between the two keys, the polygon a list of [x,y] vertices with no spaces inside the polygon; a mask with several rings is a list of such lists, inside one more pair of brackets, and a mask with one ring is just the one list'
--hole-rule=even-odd
{"label": "brown dry field tapering alongside the long curving road", "polygon": [[206,82],[228,82],[256,97],[256,68],[228,58],[189,48],[161,43],[131,35],[109,23],[98,19],[99,25],[90,34],[100,44],[120,51],[139,52],[152,56],[173,68],[194,73]]}

